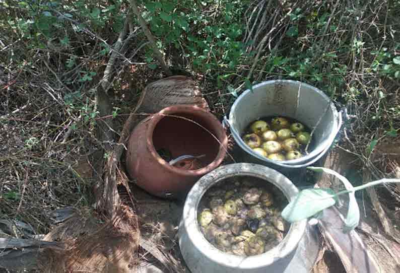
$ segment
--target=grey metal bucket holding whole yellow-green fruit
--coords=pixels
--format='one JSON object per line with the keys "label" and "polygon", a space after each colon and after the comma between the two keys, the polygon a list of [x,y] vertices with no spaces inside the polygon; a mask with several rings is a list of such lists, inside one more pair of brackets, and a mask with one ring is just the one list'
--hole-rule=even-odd
{"label": "grey metal bucket holding whole yellow-green fruit", "polygon": [[[248,124],[260,117],[287,116],[295,118],[311,128],[313,150],[302,158],[274,161],[254,153],[242,140]],[[304,168],[319,160],[335,141],[343,120],[334,103],[319,89],[298,81],[274,80],[253,86],[244,91],[232,105],[229,125],[239,147],[255,162],[278,169]]]}

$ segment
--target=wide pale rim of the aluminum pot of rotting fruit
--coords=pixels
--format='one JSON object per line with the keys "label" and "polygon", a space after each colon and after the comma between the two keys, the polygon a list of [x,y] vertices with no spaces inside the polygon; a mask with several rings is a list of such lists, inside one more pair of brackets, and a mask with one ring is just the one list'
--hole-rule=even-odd
{"label": "wide pale rim of the aluminum pot of rotting fruit", "polygon": [[[223,171],[223,172],[221,172]],[[182,224],[189,240],[201,253],[216,263],[227,268],[239,266],[241,269],[254,269],[269,266],[277,259],[292,253],[304,235],[307,220],[292,223],[283,241],[274,248],[260,255],[237,256],[222,252],[206,240],[199,229],[197,208],[204,193],[217,182],[233,176],[252,176],[264,179],[276,185],[288,198],[292,200],[298,193],[297,187],[283,174],[269,167],[252,163],[234,163],[221,166],[199,179],[189,191],[183,207]],[[179,241],[179,243],[181,243]]]}

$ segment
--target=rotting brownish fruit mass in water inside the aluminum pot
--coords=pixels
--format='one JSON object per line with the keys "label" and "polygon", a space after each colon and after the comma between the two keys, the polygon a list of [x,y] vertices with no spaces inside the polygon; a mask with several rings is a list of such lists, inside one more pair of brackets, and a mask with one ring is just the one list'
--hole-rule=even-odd
{"label": "rotting brownish fruit mass in water inside the aluminum pot", "polygon": [[265,186],[265,182],[255,183],[256,179],[220,183],[204,194],[198,225],[219,250],[239,256],[259,255],[278,245],[289,230],[280,215],[287,204],[282,191]]}

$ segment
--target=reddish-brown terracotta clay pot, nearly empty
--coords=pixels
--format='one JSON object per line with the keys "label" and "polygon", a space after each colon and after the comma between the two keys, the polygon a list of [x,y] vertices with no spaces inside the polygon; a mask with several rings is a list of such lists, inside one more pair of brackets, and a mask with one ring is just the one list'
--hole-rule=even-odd
{"label": "reddish-brown terracotta clay pot, nearly empty", "polygon": [[[181,198],[200,177],[221,164],[227,143],[225,130],[213,114],[194,105],[173,105],[132,131],[126,168],[149,193]],[[170,165],[170,160],[182,155],[201,157]]]}

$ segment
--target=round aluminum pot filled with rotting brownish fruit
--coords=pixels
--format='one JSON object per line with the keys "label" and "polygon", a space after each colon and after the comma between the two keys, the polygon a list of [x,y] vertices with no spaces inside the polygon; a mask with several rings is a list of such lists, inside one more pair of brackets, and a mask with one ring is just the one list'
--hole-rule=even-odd
{"label": "round aluminum pot filled with rotting brownish fruit", "polygon": [[277,186],[292,200],[298,190],[281,173],[257,164],[221,166],[199,179],[186,197],[179,225],[179,247],[192,273],[308,273],[317,258],[318,237],[306,220],[293,223],[283,241],[256,256],[242,257],[222,252],[209,243],[197,222],[197,208],[205,192],[219,181],[233,176],[252,176]]}

